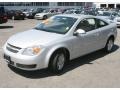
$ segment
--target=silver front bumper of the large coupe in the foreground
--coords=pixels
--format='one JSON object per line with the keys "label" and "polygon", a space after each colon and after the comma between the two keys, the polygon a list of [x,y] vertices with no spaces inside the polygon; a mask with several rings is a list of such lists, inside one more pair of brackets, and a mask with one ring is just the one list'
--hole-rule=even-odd
{"label": "silver front bumper of the large coupe in the foreground", "polygon": [[37,56],[26,56],[19,53],[12,53],[5,47],[3,48],[3,51],[3,57],[5,58],[6,55],[10,58],[10,60],[8,60],[8,58],[5,58],[6,62],[16,68],[22,70],[39,70],[46,68],[45,53],[40,53],[40,55]]}

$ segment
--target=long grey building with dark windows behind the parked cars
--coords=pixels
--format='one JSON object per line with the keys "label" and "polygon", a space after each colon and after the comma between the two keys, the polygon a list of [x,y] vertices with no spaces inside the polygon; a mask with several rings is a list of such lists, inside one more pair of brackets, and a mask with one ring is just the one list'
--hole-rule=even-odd
{"label": "long grey building with dark windows behind the parked cars", "polygon": [[92,7],[92,4],[92,2],[0,2],[0,6],[7,9],[80,8]]}

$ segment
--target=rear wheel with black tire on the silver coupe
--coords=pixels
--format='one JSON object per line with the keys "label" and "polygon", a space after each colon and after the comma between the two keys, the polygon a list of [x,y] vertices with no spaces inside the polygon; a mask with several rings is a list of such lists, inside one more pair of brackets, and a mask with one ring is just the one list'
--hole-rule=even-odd
{"label": "rear wheel with black tire on the silver coupe", "polygon": [[107,53],[110,53],[110,52],[112,52],[113,46],[114,46],[114,38],[110,37],[110,38],[107,40],[107,43],[106,43],[106,46],[105,46],[104,50],[105,50]]}

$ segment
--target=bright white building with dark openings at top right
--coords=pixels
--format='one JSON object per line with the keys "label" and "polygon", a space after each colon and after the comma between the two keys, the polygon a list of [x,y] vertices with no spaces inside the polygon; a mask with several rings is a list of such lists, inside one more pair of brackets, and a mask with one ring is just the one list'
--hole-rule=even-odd
{"label": "bright white building with dark openings at top right", "polygon": [[120,3],[111,3],[111,2],[95,2],[94,7],[96,8],[117,8],[120,9]]}

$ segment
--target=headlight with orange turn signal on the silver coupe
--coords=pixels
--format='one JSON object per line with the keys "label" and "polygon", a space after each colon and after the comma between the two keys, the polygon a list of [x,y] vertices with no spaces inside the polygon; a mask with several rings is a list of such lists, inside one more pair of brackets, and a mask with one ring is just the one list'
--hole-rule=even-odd
{"label": "headlight with orange turn signal on the silver coupe", "polygon": [[37,55],[39,54],[41,51],[40,46],[34,46],[34,47],[29,47],[29,48],[25,48],[25,50],[23,51],[23,55],[29,55],[29,56],[33,56],[33,55]]}

